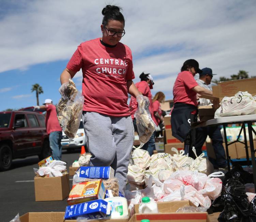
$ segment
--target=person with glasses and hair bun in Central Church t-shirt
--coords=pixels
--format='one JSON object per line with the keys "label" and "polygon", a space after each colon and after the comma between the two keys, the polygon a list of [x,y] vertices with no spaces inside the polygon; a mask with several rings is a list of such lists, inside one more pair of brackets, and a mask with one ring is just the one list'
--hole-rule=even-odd
{"label": "person with glasses and hair bun in Central Church t-shirt", "polygon": [[133,73],[131,49],[120,43],[124,17],[120,8],[103,10],[102,37],[81,43],[61,74],[60,93],[66,97],[69,78],[82,69],[85,97],[82,120],[91,166],[111,166],[124,194],[128,163],[134,140],[128,93],[139,95]]}

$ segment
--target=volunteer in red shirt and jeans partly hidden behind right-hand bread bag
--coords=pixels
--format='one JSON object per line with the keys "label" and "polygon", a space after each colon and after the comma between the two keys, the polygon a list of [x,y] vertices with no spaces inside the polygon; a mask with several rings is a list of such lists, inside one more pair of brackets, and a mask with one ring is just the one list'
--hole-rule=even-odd
{"label": "volunteer in red shirt and jeans partly hidden behind right-hand bread bag", "polygon": [[[148,73],[145,74],[144,72],[140,74],[139,76],[140,78],[140,82],[137,82],[135,84],[135,86],[137,87],[137,89],[139,90],[139,92],[144,95],[147,96],[149,99],[149,111],[151,116],[153,116],[153,102],[152,102],[152,94],[150,89],[153,89],[153,77]],[[133,119],[133,126],[136,132],[138,132],[137,129],[137,125],[136,125],[136,119],[135,119],[135,112],[137,110],[138,107],[138,103],[135,97],[131,97],[130,100],[130,111],[131,111],[131,117]],[[153,150],[155,149],[155,137],[154,137],[154,133],[152,134],[152,136],[150,137],[149,141],[147,143],[145,143],[141,149],[145,149],[149,152],[149,155],[151,156],[153,154]]]}

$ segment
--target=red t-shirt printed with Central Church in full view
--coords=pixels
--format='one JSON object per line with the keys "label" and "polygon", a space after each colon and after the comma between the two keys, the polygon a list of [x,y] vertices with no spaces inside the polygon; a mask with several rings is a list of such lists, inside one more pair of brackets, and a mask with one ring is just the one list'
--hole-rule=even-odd
{"label": "red t-shirt printed with Central Church in full view", "polygon": [[135,78],[132,52],[118,43],[114,48],[101,44],[100,38],[81,43],[67,68],[78,72],[82,68],[84,111],[109,116],[129,116],[126,81]]}

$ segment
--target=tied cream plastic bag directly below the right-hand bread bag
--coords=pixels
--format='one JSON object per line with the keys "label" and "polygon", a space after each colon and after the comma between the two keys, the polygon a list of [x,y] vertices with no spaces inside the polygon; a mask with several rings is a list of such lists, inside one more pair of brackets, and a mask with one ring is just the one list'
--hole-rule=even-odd
{"label": "tied cream plastic bag directly below the right-hand bread bag", "polygon": [[136,148],[135,146],[133,146],[133,148],[135,149],[131,153],[130,163],[142,169],[148,168],[151,159],[149,152],[144,149]]}

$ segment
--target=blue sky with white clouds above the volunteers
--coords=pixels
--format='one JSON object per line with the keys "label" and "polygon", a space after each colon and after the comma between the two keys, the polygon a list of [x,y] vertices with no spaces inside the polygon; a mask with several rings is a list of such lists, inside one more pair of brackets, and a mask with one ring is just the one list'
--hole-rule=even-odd
{"label": "blue sky with white clouds above the volunteers", "polygon": [[[154,78],[154,95],[172,98],[182,63],[194,58],[219,76],[240,69],[256,75],[256,1],[0,1],[0,111],[36,105],[32,84],[57,103],[59,76],[77,46],[100,37],[101,10],[119,5],[125,17],[121,42],[133,53],[136,79]],[[161,4],[160,4],[161,3]],[[74,81],[81,90],[82,75]]]}

